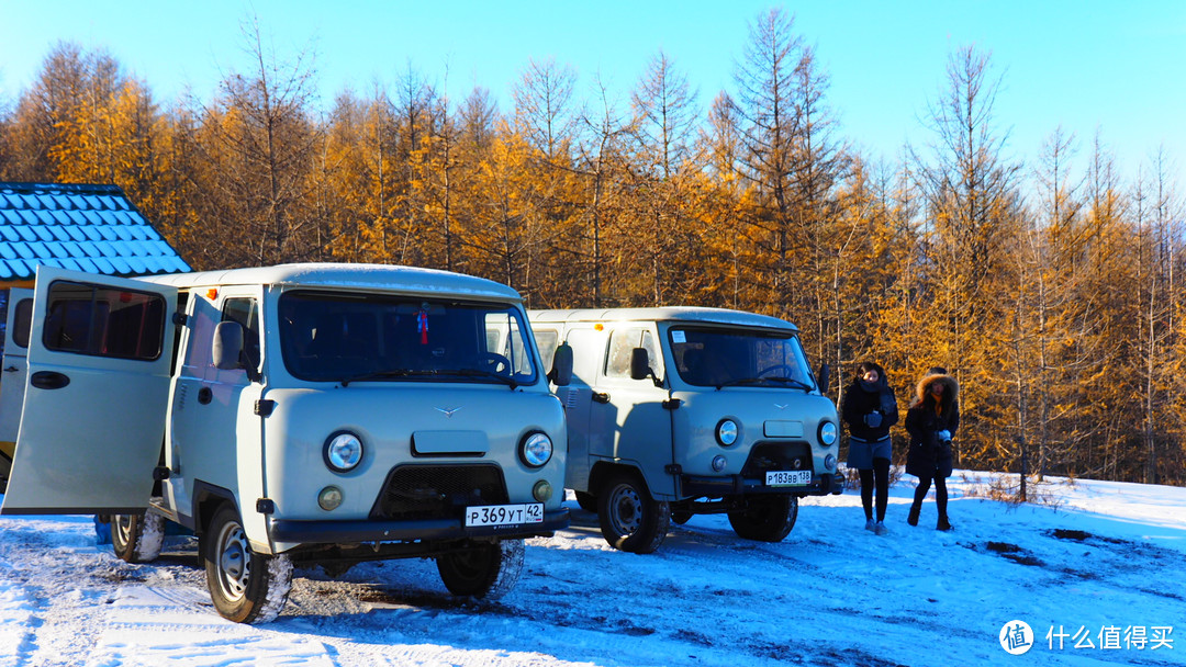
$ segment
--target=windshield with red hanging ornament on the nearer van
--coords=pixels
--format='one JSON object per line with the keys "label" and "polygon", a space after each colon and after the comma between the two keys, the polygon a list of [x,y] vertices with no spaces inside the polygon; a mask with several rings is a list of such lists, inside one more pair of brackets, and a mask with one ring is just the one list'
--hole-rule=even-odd
{"label": "windshield with red hanging ornament on the nearer van", "polygon": [[318,381],[536,381],[518,308],[380,294],[289,291],[280,297],[288,372]]}

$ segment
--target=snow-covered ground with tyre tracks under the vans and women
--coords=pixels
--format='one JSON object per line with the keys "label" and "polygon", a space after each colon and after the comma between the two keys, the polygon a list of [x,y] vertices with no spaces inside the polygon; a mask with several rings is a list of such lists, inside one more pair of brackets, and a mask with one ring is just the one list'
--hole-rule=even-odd
{"label": "snow-covered ground with tyre tracks under the vans and women", "polygon": [[89,517],[0,517],[0,666],[1186,665],[1186,488],[1058,481],[1012,507],[977,495],[989,477],[950,480],[950,533],[933,500],[906,525],[906,477],[888,535],[847,492],[804,501],[782,544],[696,517],[650,556],[569,501],[499,602],[451,598],[423,560],[298,570],[259,627],[217,615],[191,538],[129,565]]}

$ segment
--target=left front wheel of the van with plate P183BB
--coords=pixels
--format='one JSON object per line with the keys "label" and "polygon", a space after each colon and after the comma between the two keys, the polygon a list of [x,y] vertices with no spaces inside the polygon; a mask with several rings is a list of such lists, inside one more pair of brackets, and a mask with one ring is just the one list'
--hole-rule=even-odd
{"label": "left front wheel of the van with plate P183BB", "polygon": [[671,525],[671,506],[651,498],[633,473],[610,479],[598,494],[601,535],[610,546],[631,553],[651,553],[663,544]]}

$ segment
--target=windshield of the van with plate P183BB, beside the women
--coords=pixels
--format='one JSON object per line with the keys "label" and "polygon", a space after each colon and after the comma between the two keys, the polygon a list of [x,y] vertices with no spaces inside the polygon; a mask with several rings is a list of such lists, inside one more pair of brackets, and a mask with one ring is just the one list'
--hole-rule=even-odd
{"label": "windshield of the van with plate P183BB, beside the women", "polygon": [[791,333],[676,327],[668,332],[680,378],[696,386],[814,390],[799,339]]}

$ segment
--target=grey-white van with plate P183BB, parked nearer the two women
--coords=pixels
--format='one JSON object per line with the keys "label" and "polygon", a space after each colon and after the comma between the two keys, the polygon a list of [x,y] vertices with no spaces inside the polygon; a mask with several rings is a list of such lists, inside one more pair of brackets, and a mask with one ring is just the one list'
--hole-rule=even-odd
{"label": "grey-white van with plate P183BB, parked nearer the two women", "polygon": [[780,541],[799,498],[843,492],[836,406],[793,325],[690,307],[528,316],[541,349],[572,347],[565,486],[612,546],[648,553],[669,521],[722,513]]}

